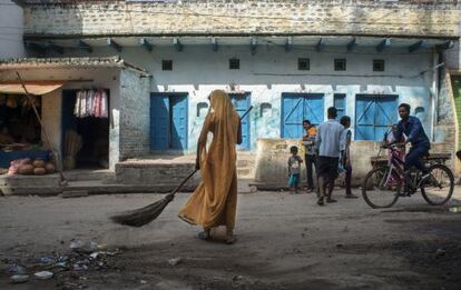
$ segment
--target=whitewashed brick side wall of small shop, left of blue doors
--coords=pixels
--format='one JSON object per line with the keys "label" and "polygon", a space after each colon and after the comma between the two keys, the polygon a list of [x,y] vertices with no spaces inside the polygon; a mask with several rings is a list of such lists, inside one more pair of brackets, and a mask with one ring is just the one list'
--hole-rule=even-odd
{"label": "whitewashed brick side wall of small shop, left of blue doors", "polygon": [[120,160],[149,152],[149,79],[120,72]]}

